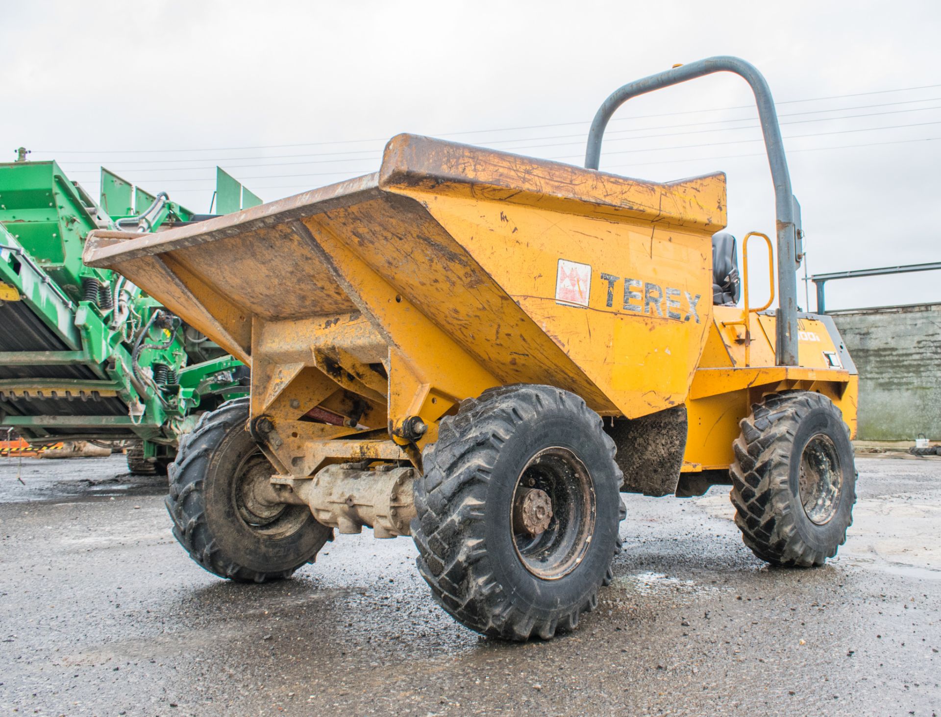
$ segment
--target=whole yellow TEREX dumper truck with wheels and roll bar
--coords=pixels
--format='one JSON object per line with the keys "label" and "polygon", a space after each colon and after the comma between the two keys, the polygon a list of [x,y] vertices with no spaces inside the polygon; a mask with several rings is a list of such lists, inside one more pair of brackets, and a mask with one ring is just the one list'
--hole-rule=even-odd
{"label": "whole yellow TEREX dumper truck with wheels and roll bar", "polygon": [[[598,171],[618,106],[711,72],[756,96],[774,311],[749,305],[747,240],[739,279],[724,174]],[[597,605],[620,492],[731,485],[762,560],[836,553],[857,376],[833,323],[796,305],[799,206],[764,79],[712,57],[626,85],[598,110],[585,165],[398,135],[374,174],[169,231],[92,234],[88,264],[251,367],[250,397],[204,414],[169,471],[173,532],[200,566],[264,582],[334,530],[411,535],[448,613],[525,640]]]}

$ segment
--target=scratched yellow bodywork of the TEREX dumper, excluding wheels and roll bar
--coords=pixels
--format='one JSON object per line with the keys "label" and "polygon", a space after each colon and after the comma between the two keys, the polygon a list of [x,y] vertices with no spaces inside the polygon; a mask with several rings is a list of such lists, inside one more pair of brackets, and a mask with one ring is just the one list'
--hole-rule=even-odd
{"label": "scratched yellow bodywork of the TEREX dumper, excluding wheels and roll bar", "polygon": [[[684,470],[705,470],[734,460],[769,392],[819,390],[852,427],[857,400],[820,321],[800,322],[801,366],[778,367],[774,317],[712,307],[725,225],[723,174],[643,182],[400,135],[374,175],[92,236],[86,258],[251,362],[252,416],[275,425],[263,450],[282,472],[418,465],[442,415],[513,383],[573,391],[602,416],[685,404]],[[314,408],[330,421],[305,421]],[[412,417],[428,425],[414,441]]]}

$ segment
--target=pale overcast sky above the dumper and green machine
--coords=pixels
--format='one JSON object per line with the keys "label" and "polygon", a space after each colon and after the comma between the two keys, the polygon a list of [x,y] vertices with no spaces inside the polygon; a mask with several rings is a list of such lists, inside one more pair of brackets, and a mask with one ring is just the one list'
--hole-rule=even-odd
{"label": "pale overcast sky above the dumper and green machine", "polygon": [[[941,260],[937,2],[0,0],[0,19],[0,159],[24,145],[94,196],[104,165],[205,212],[219,165],[279,199],[374,171],[400,132],[582,164],[615,88],[736,55],[774,92],[810,273]],[[609,126],[601,168],[726,171],[729,231],[774,234],[756,117],[733,75],[637,98]],[[758,297],[758,250],[753,261]],[[941,301],[939,283],[837,281],[827,302]]]}

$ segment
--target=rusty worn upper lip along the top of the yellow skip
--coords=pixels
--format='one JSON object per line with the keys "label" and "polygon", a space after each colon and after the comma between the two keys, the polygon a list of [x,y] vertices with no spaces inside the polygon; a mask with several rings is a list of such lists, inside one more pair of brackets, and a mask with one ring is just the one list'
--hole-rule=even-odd
{"label": "rusty worn upper lip along the top of the yellow skip", "polygon": [[[720,175],[725,176],[719,173],[705,177]],[[144,256],[197,247],[247,231],[323,214],[374,199],[382,191],[394,192],[397,186],[480,186],[505,191],[506,200],[526,201],[529,198],[531,202],[551,195],[568,204],[573,212],[606,208],[609,211],[606,218],[609,219],[616,219],[618,212],[630,212],[656,214],[668,221],[671,217],[664,215],[659,207],[642,205],[636,200],[632,203],[617,201],[617,195],[637,186],[671,191],[671,188],[690,181],[639,182],[596,170],[456,142],[418,135],[396,135],[386,145],[378,172],[168,231],[152,234],[92,231],[88,234],[83,260],[89,266],[114,268],[115,264]],[[724,224],[724,209],[718,211],[722,216],[717,218]],[[709,218],[688,219],[686,223],[719,226]]]}

